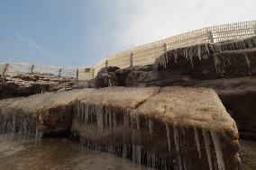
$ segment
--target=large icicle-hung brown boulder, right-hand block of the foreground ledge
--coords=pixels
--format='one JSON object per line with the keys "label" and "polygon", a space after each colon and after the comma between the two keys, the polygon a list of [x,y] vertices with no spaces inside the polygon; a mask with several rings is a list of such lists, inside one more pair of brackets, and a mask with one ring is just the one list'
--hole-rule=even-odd
{"label": "large icicle-hung brown boulder, right-hand block of the foreground ledge", "polygon": [[[123,98],[123,94],[129,95]],[[237,169],[240,165],[235,122],[212,90],[98,90],[74,104],[72,130],[87,148],[154,168]]]}

